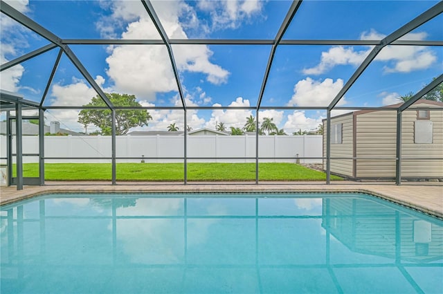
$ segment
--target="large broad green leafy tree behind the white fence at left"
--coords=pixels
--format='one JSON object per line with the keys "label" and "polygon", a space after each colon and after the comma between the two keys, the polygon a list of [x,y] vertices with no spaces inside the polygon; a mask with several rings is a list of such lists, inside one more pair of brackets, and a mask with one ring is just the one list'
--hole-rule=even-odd
{"label": "large broad green leafy tree behind the white fence at left", "polygon": [[[106,93],[112,104],[121,107],[141,107],[136,101],[136,96],[119,93]],[[105,102],[99,95],[93,97],[85,107],[106,107]],[[132,127],[147,126],[147,121],[152,120],[146,109],[122,109],[116,111],[116,135],[125,135]],[[82,109],[78,115],[80,122],[86,129],[92,124],[100,128],[101,134],[109,136],[112,134],[112,114],[110,109]]]}

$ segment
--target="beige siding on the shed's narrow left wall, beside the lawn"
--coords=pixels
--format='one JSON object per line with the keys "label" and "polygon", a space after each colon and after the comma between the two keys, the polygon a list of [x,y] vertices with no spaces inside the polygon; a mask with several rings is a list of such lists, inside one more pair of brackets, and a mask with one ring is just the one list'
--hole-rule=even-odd
{"label": "beige siding on the shed's narrow left wall, beside the lawn", "polygon": [[[331,144],[331,158],[347,157],[352,158],[352,113],[347,116],[341,116],[331,119],[331,124],[343,124],[342,129],[342,143]],[[323,154],[326,156],[326,134],[327,122],[323,122]],[[323,160],[323,167],[326,169],[326,160]],[[334,174],[341,174],[343,176],[352,176],[352,159],[331,159],[331,172]]]}

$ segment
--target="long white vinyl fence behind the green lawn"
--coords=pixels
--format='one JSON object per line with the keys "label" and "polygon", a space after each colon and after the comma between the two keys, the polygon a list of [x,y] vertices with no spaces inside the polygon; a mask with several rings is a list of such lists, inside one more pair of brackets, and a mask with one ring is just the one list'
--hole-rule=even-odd
{"label": "long white vinyl fence behind the green lawn", "polygon": [[[322,136],[259,136],[258,155],[266,158],[260,159],[260,162],[295,163],[297,156],[321,157],[322,140]],[[255,136],[188,136],[188,162],[255,162],[255,144]],[[146,163],[182,163],[183,146],[184,137],[180,135],[117,136],[117,162],[140,162],[143,156]],[[5,136],[1,136],[0,147],[1,157],[6,157]],[[23,153],[38,153],[37,136],[23,137]],[[110,163],[111,137],[45,136],[44,156],[46,163]],[[24,163],[30,163],[37,162],[38,158],[24,156],[23,160]],[[322,163],[322,160],[300,159],[300,163]]]}

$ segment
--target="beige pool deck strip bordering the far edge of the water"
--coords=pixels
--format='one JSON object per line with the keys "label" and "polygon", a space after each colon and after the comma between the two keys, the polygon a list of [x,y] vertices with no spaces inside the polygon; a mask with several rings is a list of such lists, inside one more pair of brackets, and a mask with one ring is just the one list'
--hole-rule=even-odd
{"label": "beige pool deck strip bordering the far edge of the water", "polygon": [[212,182],[212,183],[141,183],[122,182],[46,182],[44,186],[0,187],[0,205],[6,205],[42,194],[80,192],[364,192],[382,199],[420,210],[443,219],[442,182],[390,182],[359,183],[332,182]]}

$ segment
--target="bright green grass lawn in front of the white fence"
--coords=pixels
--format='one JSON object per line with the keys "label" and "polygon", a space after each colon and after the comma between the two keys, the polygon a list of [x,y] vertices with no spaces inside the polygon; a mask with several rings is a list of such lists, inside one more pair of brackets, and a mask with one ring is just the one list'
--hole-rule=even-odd
{"label": "bright green grass lawn in front of the white fence", "polygon": [[[15,174],[15,171],[13,171]],[[24,164],[38,176],[38,164]],[[110,181],[110,163],[46,163],[46,181]],[[183,163],[117,163],[117,181],[183,181]],[[260,181],[325,181],[326,174],[295,163],[260,163]],[[342,180],[331,176],[331,180]],[[188,163],[188,181],[255,181],[255,163]]]}

